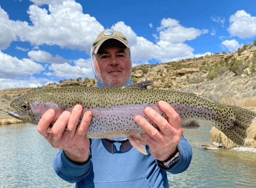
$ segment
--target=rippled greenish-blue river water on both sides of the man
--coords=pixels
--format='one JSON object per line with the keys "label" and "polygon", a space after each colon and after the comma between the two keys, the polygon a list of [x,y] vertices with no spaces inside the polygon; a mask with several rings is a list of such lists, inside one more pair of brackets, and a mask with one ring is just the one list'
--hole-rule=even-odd
{"label": "rippled greenish-blue river water on both sides of the man", "polygon": [[[193,149],[187,171],[168,174],[172,188],[256,187],[256,153],[235,150],[205,150],[211,126],[184,129]],[[74,187],[59,178],[52,167],[58,149],[53,149],[32,124],[0,126],[0,188]]]}

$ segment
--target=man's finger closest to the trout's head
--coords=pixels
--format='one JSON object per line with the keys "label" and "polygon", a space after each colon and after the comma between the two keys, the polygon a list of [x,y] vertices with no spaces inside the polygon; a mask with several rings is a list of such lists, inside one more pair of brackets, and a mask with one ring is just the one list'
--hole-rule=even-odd
{"label": "man's finger closest to the trout's head", "polygon": [[49,109],[42,115],[41,120],[38,122],[37,131],[42,134],[44,137],[48,137],[49,133],[47,129],[50,126],[51,121],[54,119],[55,111],[53,109]]}

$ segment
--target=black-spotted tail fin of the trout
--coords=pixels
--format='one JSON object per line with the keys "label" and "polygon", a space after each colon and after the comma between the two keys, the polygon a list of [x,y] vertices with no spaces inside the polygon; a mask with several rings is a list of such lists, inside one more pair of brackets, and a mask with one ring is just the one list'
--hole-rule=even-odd
{"label": "black-spotted tail fin of the trout", "polygon": [[[250,110],[237,106],[227,105],[230,116],[226,123],[219,124],[217,127],[228,138],[238,145],[243,146],[247,138],[247,128],[256,120],[256,114]],[[225,125],[226,124],[226,125]]]}

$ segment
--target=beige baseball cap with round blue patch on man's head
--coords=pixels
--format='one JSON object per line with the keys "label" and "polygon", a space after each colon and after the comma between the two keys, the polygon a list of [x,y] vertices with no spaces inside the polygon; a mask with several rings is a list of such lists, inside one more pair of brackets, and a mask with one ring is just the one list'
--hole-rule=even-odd
{"label": "beige baseball cap with round blue patch on man's head", "polygon": [[120,33],[118,31],[114,31],[112,29],[106,29],[102,31],[96,40],[92,43],[93,51],[92,53],[97,54],[100,46],[108,39],[116,39],[119,40],[121,43],[123,43],[127,48],[129,48],[128,40],[124,36],[123,33]]}

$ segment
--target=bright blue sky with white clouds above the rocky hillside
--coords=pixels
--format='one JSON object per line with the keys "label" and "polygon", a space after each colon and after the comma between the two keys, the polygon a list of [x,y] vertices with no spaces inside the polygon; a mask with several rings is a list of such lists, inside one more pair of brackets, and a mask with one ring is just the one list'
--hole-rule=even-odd
{"label": "bright blue sky with white clouds above the rocky hillside", "polygon": [[132,65],[236,51],[256,38],[256,1],[0,2],[0,89],[89,77],[104,29],[124,33]]}

